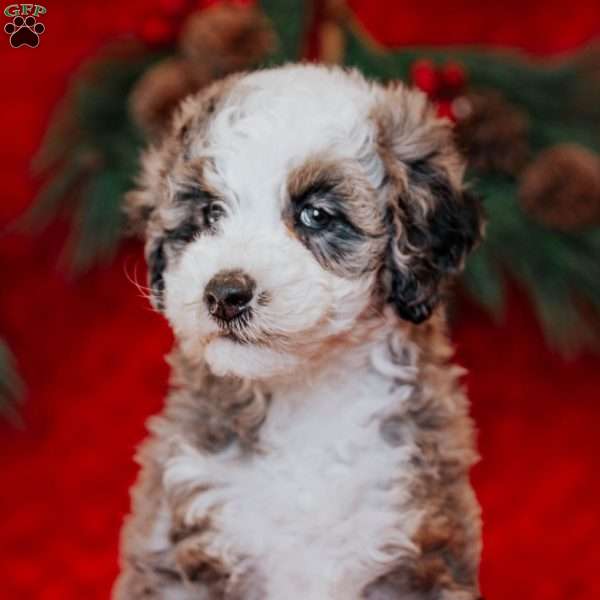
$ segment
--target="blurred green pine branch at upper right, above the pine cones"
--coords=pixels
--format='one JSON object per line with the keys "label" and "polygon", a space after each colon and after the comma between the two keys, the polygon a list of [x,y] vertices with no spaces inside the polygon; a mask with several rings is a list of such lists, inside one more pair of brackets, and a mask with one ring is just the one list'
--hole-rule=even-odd
{"label": "blurred green pine branch at upper right, above the pine cones", "polygon": [[[418,59],[435,63],[458,61],[474,88],[492,88],[530,117],[531,145],[537,151],[563,141],[578,142],[600,151],[600,52],[586,61],[575,57],[561,62],[534,62],[517,52],[485,48],[407,48],[379,52],[355,34],[348,35],[345,63],[384,81],[410,80]],[[585,55],[586,57],[588,54]]]}

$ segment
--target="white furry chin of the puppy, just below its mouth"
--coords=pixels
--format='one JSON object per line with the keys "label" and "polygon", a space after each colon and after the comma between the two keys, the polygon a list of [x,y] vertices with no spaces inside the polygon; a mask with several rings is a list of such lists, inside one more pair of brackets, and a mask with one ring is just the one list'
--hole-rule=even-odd
{"label": "white furry chin of the puppy, just below its mouth", "polygon": [[253,344],[240,344],[227,338],[216,338],[205,348],[204,358],[217,376],[232,375],[244,379],[268,379],[293,373],[300,361],[297,357]]}

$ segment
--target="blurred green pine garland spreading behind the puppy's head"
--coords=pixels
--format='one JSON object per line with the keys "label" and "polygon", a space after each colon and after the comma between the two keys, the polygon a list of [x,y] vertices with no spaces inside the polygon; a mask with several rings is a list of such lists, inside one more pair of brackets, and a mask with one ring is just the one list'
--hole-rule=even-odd
{"label": "blurred green pine garland spreading behind the puppy's head", "polygon": [[[267,64],[301,54],[306,9],[301,0],[262,0],[280,44]],[[43,223],[66,209],[73,215],[69,241],[76,270],[109,259],[119,240],[122,194],[130,187],[143,140],[129,117],[133,84],[164,57],[133,53],[100,57],[78,78],[49,130],[38,166],[47,174],[28,222]],[[559,64],[532,62],[516,53],[484,49],[379,51],[348,31],[345,63],[380,80],[409,79],[417,59],[461,63],[473,88],[498,90],[530,119],[535,153],[559,142],[600,151],[600,83],[593,52]],[[514,278],[529,293],[548,340],[562,347],[589,342],[582,307],[600,311],[600,229],[561,233],[527,217],[516,199],[517,182],[500,174],[471,174],[485,199],[489,224],[483,245],[470,259],[466,291],[501,315],[504,280]]]}

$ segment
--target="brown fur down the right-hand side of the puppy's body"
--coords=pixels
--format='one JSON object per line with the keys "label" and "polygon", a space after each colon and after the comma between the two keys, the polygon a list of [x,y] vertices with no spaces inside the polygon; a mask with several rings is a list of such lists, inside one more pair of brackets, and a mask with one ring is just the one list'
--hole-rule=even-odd
{"label": "brown fur down the right-hand side of the puppy's body", "polygon": [[[408,413],[383,421],[381,435],[392,445],[402,443],[406,427],[416,436],[418,453],[412,462],[420,476],[411,491],[425,515],[412,540],[417,548],[415,556],[369,584],[365,595],[373,600],[404,596],[476,600],[479,508],[468,474],[477,455],[460,370],[449,364],[453,353],[440,311],[422,326],[409,326],[407,333],[419,348],[418,385],[409,400]],[[395,360],[410,364],[402,355],[396,355]]]}

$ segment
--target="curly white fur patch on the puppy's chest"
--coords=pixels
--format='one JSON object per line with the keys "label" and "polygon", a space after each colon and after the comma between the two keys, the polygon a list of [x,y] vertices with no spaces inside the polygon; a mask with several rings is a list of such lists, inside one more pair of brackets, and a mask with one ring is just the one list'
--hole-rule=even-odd
{"label": "curly white fur patch on the puppy's chest", "polygon": [[[209,552],[261,574],[269,600],[360,598],[363,587],[413,551],[414,441],[391,445],[382,421],[412,393],[373,368],[336,372],[274,394],[257,453],[182,447],[167,491],[200,491],[189,525],[209,517]],[[410,427],[405,429],[410,432]]]}

